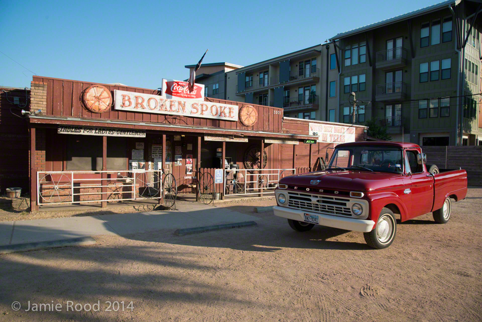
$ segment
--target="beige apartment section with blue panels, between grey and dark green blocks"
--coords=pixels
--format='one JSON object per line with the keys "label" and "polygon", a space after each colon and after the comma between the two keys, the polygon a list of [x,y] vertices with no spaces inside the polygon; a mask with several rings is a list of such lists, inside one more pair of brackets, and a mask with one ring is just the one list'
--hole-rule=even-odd
{"label": "beige apartment section with blue panels, between grey and dark green blocks", "polygon": [[339,86],[334,53],[333,44],[320,44],[229,71],[226,99],[283,108],[285,117],[334,122],[327,109],[336,104],[328,97],[336,97]]}

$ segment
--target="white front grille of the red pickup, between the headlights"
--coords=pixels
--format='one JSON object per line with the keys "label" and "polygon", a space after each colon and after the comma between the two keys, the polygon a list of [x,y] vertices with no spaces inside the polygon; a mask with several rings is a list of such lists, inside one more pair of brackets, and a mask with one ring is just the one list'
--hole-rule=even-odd
{"label": "white front grille of the red pickup, between the headlights", "polygon": [[320,194],[288,192],[288,206],[300,210],[351,217],[350,199]]}

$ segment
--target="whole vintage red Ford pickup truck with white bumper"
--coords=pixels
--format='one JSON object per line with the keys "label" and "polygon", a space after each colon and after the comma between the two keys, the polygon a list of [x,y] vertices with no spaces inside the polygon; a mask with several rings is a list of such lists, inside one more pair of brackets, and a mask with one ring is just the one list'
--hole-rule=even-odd
{"label": "whole vintage red Ford pickup truck with white bumper", "polygon": [[429,172],[425,163],[422,149],[412,143],[340,144],[323,171],[280,180],[275,215],[298,232],[314,225],[363,232],[369,246],[387,248],[397,218],[404,222],[432,212],[435,222],[445,224],[451,200],[465,198],[465,170]]}

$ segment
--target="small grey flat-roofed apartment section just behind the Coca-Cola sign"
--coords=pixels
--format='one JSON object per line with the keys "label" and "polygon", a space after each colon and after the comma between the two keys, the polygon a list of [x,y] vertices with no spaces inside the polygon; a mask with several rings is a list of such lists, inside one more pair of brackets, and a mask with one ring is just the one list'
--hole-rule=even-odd
{"label": "small grey flat-roofed apartment section just behind the Coca-Cola sign", "polygon": [[[189,74],[196,65],[186,65]],[[226,99],[226,72],[241,68],[243,66],[226,62],[201,64],[196,72],[196,83],[204,85],[204,96]],[[186,79],[187,81],[187,79]]]}

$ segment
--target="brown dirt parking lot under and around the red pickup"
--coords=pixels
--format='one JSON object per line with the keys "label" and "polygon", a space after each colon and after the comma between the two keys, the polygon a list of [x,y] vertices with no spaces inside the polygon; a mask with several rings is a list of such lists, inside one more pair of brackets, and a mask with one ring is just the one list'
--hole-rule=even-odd
{"label": "brown dirt parking lot under and around the red pickup", "polygon": [[[260,218],[252,228],[1,255],[0,321],[480,321],[480,208],[482,188],[469,189],[447,224],[431,214],[399,223],[385,250],[361,233],[297,233],[270,211],[251,213]],[[29,300],[61,309],[26,312]],[[98,312],[71,311],[97,301]],[[105,311],[106,301],[125,309]]]}

